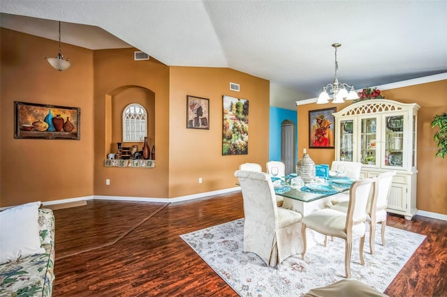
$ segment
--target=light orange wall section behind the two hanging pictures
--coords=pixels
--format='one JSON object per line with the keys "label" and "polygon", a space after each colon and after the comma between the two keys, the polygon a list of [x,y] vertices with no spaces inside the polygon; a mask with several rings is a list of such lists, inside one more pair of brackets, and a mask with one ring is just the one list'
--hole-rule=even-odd
{"label": "light orange wall section behind the two hanging pictures", "polygon": [[[230,82],[240,92],[230,91]],[[228,68],[170,68],[170,197],[234,188],[243,162],[265,168],[269,94],[267,80]],[[186,129],[186,95],[210,99],[210,130]],[[223,95],[249,100],[248,155],[222,155]]]}

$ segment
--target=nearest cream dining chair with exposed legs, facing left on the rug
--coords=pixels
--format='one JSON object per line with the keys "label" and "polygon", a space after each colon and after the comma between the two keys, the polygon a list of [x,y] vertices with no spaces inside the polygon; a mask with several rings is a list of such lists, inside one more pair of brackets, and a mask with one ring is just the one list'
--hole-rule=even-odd
{"label": "nearest cream dining chair with exposed legs, facing left on the rug", "polygon": [[354,181],[349,192],[349,205],[347,213],[336,211],[331,208],[323,208],[302,218],[302,259],[306,253],[306,228],[313,229],[325,235],[325,245],[327,236],[335,236],[345,241],[344,269],[346,278],[351,278],[351,252],[354,238],[360,237],[360,264],[365,264],[363,259],[363,245],[365,245],[365,220],[367,216],[367,206],[369,192],[374,190],[372,185],[375,178],[365,178]]}

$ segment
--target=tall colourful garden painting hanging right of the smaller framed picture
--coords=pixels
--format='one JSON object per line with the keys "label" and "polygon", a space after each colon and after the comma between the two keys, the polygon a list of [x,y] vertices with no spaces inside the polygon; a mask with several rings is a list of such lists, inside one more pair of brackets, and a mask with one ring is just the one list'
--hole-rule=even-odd
{"label": "tall colourful garden painting hanging right of the smaller framed picture", "polygon": [[249,153],[249,100],[223,96],[222,155]]}

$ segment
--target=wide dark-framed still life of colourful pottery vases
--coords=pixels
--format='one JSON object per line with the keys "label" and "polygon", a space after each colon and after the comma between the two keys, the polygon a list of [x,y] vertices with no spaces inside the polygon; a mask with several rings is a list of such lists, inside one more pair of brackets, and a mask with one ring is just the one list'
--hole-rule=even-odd
{"label": "wide dark-framed still life of colourful pottery vases", "polygon": [[81,139],[80,107],[14,102],[14,138]]}

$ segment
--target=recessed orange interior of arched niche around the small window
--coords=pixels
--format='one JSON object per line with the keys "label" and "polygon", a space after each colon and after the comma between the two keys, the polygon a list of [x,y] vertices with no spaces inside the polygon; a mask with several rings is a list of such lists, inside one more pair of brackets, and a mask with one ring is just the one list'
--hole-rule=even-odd
{"label": "recessed orange interior of arched niche around the small window", "polygon": [[[147,111],[147,142],[155,145],[155,93],[142,86],[120,86],[105,94],[105,152],[116,153],[117,143],[122,142],[122,113],[131,103],[138,103]],[[124,146],[137,145],[142,150],[142,142],[126,142]]]}

